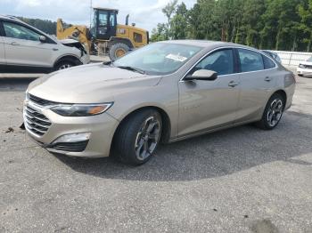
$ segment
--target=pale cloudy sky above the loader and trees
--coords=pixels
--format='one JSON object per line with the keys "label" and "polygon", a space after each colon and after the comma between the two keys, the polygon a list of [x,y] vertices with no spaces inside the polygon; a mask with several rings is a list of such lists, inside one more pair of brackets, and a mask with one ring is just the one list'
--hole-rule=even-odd
{"label": "pale cloudy sky above the loader and trees", "polygon": [[[91,0],[0,0],[0,14],[37,18],[56,21],[61,18],[70,24],[90,24]],[[136,27],[152,31],[158,22],[166,18],[161,9],[169,0],[93,0],[94,7],[119,9],[118,21],[125,24],[126,15],[130,14],[129,23]],[[181,0],[179,1],[181,2]],[[184,0],[191,8],[196,0]]]}

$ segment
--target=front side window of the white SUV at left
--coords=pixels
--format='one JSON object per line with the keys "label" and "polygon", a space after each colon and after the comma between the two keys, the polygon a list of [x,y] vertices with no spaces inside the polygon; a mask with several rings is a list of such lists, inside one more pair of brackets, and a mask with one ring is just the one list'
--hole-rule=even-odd
{"label": "front side window of the white SUV at left", "polygon": [[3,22],[3,24],[6,37],[21,40],[39,41],[40,35],[29,28],[23,27],[19,24],[15,24],[12,22]]}

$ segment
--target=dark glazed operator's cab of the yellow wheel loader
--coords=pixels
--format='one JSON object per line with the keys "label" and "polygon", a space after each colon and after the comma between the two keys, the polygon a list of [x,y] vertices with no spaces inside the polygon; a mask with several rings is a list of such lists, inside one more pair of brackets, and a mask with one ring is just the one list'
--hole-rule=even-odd
{"label": "dark glazed operator's cab of the yellow wheel loader", "polygon": [[118,10],[108,8],[94,8],[94,20],[91,33],[96,40],[110,40],[116,36]]}

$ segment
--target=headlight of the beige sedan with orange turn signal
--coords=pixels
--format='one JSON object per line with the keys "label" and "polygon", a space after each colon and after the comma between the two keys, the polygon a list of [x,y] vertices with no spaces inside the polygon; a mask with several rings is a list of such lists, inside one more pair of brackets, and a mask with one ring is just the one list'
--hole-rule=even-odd
{"label": "headlight of the beige sedan with orange turn signal", "polygon": [[111,108],[112,103],[103,104],[60,104],[50,108],[61,116],[95,116]]}

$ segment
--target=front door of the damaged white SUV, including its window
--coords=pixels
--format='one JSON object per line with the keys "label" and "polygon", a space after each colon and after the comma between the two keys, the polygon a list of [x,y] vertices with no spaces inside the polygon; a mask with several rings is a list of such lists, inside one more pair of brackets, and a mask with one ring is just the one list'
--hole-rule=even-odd
{"label": "front door of the damaged white SUV, including its window", "polygon": [[4,49],[8,65],[53,67],[56,43],[41,43],[37,31],[20,23],[4,21]]}

